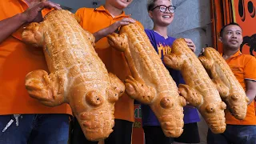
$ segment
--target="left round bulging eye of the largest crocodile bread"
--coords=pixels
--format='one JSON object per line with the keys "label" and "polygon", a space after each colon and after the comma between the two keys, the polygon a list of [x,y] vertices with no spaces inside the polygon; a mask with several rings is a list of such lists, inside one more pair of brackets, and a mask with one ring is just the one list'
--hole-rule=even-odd
{"label": "left round bulging eye of the largest crocodile bread", "polygon": [[86,102],[90,106],[100,106],[103,103],[104,98],[96,91],[90,91],[86,94]]}

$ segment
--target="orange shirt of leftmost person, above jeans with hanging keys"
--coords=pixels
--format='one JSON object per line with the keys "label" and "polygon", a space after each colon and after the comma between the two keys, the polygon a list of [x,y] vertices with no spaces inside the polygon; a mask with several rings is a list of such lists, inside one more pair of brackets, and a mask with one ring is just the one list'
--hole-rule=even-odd
{"label": "orange shirt of leftmost person, above jeans with hanging keys", "polygon": [[[0,21],[22,13],[27,8],[23,0],[1,0]],[[0,115],[72,114],[67,104],[43,106],[28,95],[25,88],[26,74],[33,70],[48,70],[42,49],[27,46],[21,41],[22,28],[0,43]]]}

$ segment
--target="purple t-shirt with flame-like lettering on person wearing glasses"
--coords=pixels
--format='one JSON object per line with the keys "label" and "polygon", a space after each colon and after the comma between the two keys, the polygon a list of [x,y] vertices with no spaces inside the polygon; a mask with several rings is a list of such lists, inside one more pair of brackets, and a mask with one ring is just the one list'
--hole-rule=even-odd
{"label": "purple t-shirt with flame-like lettering on person wearing glasses", "polygon": [[[154,46],[154,49],[158,52],[161,59],[165,54],[170,53],[170,48],[166,46],[172,46],[175,38],[168,37],[164,38],[162,35],[154,32],[154,30],[145,30],[147,36],[150,38],[151,44]],[[178,70],[172,70],[166,67],[169,70],[170,75],[176,82],[176,84],[185,83],[182,78],[182,74]],[[192,106],[184,107],[184,122],[192,123],[199,122],[200,118],[198,115],[198,110]],[[158,119],[155,117],[153,111],[150,109],[150,106],[142,104],[142,125],[143,126],[160,126]]]}

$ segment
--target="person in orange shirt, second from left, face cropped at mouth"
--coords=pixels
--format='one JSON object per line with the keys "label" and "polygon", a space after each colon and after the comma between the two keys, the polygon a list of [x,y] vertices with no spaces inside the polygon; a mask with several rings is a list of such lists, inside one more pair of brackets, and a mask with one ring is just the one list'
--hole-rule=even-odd
{"label": "person in orange shirt, second from left, face cropped at mouth", "polygon": [[[104,6],[96,9],[80,8],[76,12],[76,15],[82,19],[80,22],[82,28],[94,34],[95,50],[106,69],[116,74],[122,81],[130,74],[129,67],[124,54],[110,47],[106,36],[114,33],[120,26],[136,22],[123,11],[131,2],[132,0],[106,0]],[[139,22],[138,24],[142,26]],[[114,131],[109,138],[106,138],[105,144],[130,144],[134,122],[134,100],[123,94],[115,103],[114,118]],[[86,140],[75,118],[71,138],[73,144],[98,143]]]}

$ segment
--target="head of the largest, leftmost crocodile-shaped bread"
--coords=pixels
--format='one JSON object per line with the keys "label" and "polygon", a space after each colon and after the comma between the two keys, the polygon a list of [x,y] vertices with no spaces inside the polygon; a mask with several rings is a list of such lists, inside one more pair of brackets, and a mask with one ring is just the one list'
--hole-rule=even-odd
{"label": "head of the largest, leftmost crocodile-shaped bread", "polygon": [[113,131],[113,103],[118,100],[118,94],[105,93],[107,97],[103,94],[98,90],[91,90],[81,102],[74,103],[73,106],[82,131],[90,141],[105,139]]}

